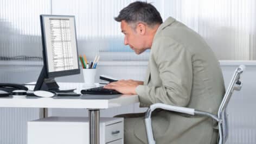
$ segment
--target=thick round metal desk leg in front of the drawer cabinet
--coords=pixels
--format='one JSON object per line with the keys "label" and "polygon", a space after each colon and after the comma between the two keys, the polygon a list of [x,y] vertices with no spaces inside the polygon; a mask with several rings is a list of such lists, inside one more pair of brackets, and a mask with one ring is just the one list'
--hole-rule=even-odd
{"label": "thick round metal desk leg in front of the drawer cabinet", "polygon": [[100,143],[100,110],[99,109],[89,109],[89,137],[90,144]]}

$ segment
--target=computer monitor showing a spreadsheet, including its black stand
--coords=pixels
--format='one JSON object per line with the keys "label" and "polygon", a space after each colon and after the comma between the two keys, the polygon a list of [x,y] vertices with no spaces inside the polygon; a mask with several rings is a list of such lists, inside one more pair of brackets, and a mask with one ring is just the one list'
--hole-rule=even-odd
{"label": "computer monitor showing a spreadsheet, including its black stand", "polygon": [[40,15],[43,68],[34,91],[58,91],[54,78],[79,74],[75,17]]}

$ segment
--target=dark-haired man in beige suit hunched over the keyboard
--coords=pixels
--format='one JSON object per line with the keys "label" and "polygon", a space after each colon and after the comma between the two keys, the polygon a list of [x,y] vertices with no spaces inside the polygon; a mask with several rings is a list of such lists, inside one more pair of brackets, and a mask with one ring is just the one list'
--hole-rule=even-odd
{"label": "dark-haired man in beige suit hunched over the keyboard", "polygon": [[[138,94],[140,106],[161,102],[217,113],[225,87],[219,62],[210,47],[193,30],[159,12],[146,2],[134,2],[120,11],[124,44],[137,54],[150,49],[144,82],[120,80],[105,88],[124,94]],[[144,114],[124,115],[125,143],[148,143]],[[216,122],[203,116],[189,116],[159,110],[152,114],[156,143],[216,143]]]}

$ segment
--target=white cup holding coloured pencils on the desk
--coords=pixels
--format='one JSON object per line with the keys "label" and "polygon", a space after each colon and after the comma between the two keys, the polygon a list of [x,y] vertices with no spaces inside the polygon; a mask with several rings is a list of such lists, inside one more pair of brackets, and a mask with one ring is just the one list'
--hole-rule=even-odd
{"label": "white cup holding coloured pencils on the desk", "polygon": [[88,69],[82,69],[82,73],[84,75],[85,84],[86,87],[94,87],[96,86],[95,83],[95,76],[96,76],[96,68],[88,68]]}

